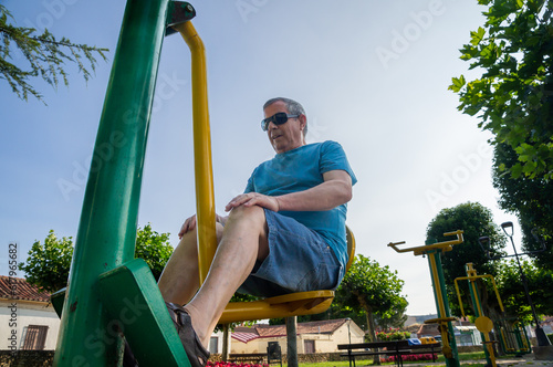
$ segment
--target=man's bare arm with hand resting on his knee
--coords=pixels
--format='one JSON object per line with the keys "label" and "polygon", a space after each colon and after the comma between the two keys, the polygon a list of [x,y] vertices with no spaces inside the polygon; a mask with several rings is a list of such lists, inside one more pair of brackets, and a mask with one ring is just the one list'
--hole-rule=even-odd
{"label": "man's bare arm with hand resting on his knee", "polygon": [[311,189],[270,197],[258,192],[242,193],[232,199],[226,211],[244,206],[260,206],[273,211],[320,211],[331,210],[352,199],[352,178],[345,170],[323,174],[324,182]]}

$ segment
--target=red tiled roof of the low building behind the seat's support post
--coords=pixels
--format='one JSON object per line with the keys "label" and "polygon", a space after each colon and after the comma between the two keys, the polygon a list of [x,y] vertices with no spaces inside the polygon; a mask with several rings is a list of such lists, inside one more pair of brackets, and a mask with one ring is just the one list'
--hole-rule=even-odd
{"label": "red tiled roof of the low building behind the seat's support post", "polygon": [[[345,318],[325,319],[309,323],[299,323],[298,334],[332,334],[346,322]],[[252,327],[237,327],[231,337],[242,343],[257,339],[259,337],[279,337],[286,335],[286,325],[257,324]]]}

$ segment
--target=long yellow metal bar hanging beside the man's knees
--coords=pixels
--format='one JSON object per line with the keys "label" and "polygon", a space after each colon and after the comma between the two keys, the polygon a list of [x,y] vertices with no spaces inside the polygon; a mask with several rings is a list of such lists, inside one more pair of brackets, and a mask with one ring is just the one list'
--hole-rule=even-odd
{"label": "long yellow metal bar hanging beside the man's knees", "polygon": [[217,250],[206,48],[191,22],[180,23],[174,28],[185,39],[191,53],[196,219],[199,273],[202,283]]}

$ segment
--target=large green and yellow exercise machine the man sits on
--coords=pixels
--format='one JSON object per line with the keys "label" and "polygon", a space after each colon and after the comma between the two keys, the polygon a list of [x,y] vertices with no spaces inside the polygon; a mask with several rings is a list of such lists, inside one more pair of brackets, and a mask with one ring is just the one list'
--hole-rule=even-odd
{"label": "large green and yellow exercise machine the man sits on", "polygon": [[[217,248],[205,48],[187,2],[127,1],[100,120],[61,317],[54,366],[118,366],[124,340],[144,366],[190,366],[154,276],[134,259],[138,201],[157,70],[165,35],[191,52],[194,159],[200,280]],[[109,149],[107,159],[94,161]],[[92,168],[94,167],[94,169]],[[349,263],[355,240],[348,232]],[[229,304],[220,323],[314,314],[333,291]]]}

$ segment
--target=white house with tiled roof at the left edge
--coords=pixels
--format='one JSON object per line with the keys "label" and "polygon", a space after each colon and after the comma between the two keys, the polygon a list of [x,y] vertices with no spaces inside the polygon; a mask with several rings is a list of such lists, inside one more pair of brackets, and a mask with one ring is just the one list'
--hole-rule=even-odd
{"label": "white house with tiled roof at the left edge", "polygon": [[24,279],[0,275],[0,349],[55,349],[60,318],[49,300]]}

